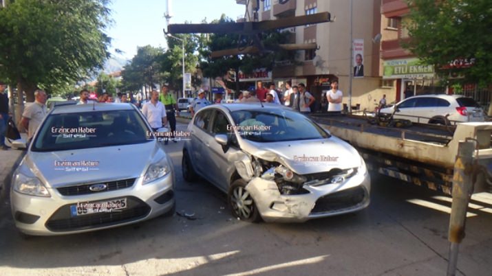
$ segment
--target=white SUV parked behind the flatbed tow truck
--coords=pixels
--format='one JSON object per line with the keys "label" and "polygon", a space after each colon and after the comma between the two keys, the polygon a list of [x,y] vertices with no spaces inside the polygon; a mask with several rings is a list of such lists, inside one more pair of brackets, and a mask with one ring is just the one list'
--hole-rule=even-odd
{"label": "white SUV parked behind the flatbed tow truck", "polygon": [[382,108],[381,113],[393,113],[396,119],[411,122],[447,124],[456,122],[484,122],[484,111],[471,97],[462,95],[417,95],[394,106]]}

